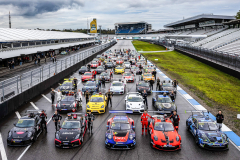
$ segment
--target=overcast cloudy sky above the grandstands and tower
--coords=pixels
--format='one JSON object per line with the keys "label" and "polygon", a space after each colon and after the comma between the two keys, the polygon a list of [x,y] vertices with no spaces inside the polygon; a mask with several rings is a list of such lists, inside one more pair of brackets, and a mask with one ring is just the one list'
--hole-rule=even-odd
{"label": "overcast cloudy sky above the grandstands and tower", "polygon": [[202,13],[236,15],[239,0],[0,0],[0,28],[87,28],[97,18],[102,28],[117,22],[146,21],[153,29]]}

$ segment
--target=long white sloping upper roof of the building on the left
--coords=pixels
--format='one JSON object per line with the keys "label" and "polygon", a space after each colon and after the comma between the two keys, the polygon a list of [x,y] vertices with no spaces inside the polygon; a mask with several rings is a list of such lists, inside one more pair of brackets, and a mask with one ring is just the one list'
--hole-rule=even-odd
{"label": "long white sloping upper roof of the building on the left", "polygon": [[0,43],[91,38],[84,33],[0,28]]}

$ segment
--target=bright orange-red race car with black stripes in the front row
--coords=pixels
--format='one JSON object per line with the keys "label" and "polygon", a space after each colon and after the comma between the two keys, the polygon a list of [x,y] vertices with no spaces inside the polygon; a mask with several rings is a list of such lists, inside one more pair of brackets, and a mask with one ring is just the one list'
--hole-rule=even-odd
{"label": "bright orange-red race car with black stripes in the front row", "polygon": [[175,130],[172,121],[163,115],[152,116],[149,125],[151,147],[164,151],[181,149],[181,136]]}

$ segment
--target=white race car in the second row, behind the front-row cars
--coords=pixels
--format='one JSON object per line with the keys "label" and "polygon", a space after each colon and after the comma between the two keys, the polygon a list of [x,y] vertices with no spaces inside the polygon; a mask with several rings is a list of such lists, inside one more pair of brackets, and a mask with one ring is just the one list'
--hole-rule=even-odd
{"label": "white race car in the second row, behind the front-row cars", "polygon": [[125,97],[126,110],[131,110],[134,113],[144,111],[143,97],[138,92],[129,92]]}

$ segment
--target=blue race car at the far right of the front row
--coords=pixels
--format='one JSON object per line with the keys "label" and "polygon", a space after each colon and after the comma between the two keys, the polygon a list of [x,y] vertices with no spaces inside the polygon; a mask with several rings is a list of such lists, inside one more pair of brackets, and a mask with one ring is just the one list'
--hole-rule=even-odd
{"label": "blue race car at the far right of the front row", "polygon": [[219,131],[216,122],[210,119],[208,114],[192,114],[187,119],[186,126],[194,136],[196,144],[201,148],[209,150],[228,150],[229,139],[227,135]]}

